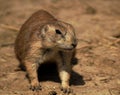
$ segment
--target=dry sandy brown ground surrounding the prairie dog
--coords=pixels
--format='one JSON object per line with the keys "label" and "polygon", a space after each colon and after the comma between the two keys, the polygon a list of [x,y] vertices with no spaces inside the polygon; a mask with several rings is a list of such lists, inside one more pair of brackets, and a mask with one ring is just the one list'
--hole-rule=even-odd
{"label": "dry sandy brown ground surrounding the prairie dog", "polygon": [[120,0],[0,0],[0,95],[64,95],[54,65],[41,67],[43,90],[32,92],[15,58],[16,28],[39,9],[76,29],[78,62],[71,78],[76,95],[120,95]]}

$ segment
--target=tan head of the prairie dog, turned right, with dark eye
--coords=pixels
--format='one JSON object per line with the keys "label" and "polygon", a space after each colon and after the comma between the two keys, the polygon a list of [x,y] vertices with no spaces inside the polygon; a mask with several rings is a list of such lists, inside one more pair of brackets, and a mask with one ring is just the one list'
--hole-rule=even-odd
{"label": "tan head of the prairie dog, turned right, with dark eye", "polygon": [[44,25],[41,37],[42,44],[46,48],[72,50],[77,45],[74,28],[64,22]]}

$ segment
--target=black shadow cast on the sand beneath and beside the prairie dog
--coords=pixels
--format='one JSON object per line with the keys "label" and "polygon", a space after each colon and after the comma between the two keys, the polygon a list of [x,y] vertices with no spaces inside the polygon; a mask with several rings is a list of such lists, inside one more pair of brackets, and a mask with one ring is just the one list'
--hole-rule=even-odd
{"label": "black shadow cast on the sand beneath and beside the prairie dog", "polygon": [[[57,67],[54,63],[41,65],[38,69],[38,78],[39,78],[39,81],[54,81],[54,82],[60,83]],[[81,75],[72,71],[70,84],[84,85],[85,82]]]}

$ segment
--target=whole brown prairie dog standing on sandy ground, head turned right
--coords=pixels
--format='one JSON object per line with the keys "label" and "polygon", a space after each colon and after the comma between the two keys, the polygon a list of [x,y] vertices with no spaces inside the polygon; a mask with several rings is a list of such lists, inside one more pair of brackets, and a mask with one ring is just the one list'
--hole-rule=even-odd
{"label": "whole brown prairie dog standing on sandy ground, head turned right", "polygon": [[[30,89],[40,90],[37,70],[46,61],[55,61],[61,79],[61,90],[71,93],[69,86],[71,60],[77,45],[72,25],[59,21],[50,13],[39,10],[21,27],[15,41],[15,53],[30,79]],[[41,76],[42,77],[42,76]]]}

